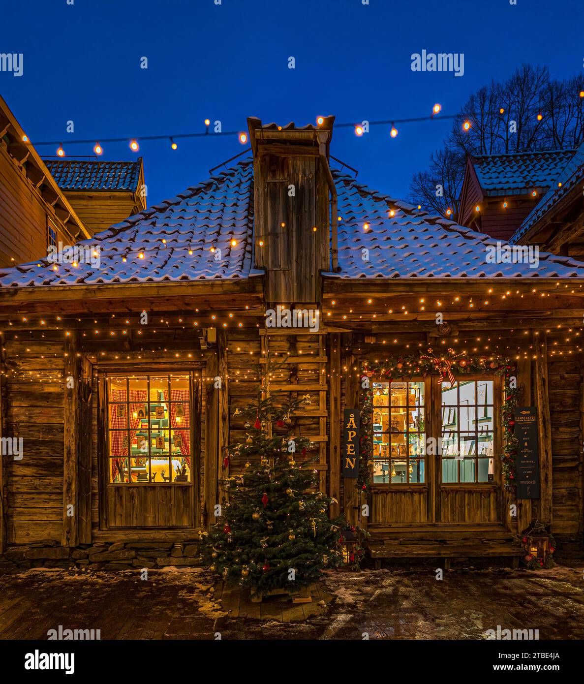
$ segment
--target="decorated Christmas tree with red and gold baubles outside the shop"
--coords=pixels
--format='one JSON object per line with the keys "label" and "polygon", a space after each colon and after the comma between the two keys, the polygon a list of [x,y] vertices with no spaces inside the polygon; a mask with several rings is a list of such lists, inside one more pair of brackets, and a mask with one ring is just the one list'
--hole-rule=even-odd
{"label": "decorated Christmas tree with red and gold baubles outside the shop", "polygon": [[318,472],[308,460],[310,439],[290,433],[291,412],[304,399],[276,406],[274,396],[236,412],[248,436],[228,447],[245,462],[243,473],[224,481],[228,501],[205,537],[209,570],[252,589],[295,592],[339,565],[343,520],[331,521],[332,499],[317,491]]}

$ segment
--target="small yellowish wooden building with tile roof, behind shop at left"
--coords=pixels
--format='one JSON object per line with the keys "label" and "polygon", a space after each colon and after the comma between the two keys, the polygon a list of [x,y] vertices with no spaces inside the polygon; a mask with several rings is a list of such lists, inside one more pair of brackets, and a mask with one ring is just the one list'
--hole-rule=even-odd
{"label": "small yellowish wooden building with tile roof, behind shop at left", "polygon": [[136,161],[47,159],[45,163],[92,235],[146,209],[142,157]]}

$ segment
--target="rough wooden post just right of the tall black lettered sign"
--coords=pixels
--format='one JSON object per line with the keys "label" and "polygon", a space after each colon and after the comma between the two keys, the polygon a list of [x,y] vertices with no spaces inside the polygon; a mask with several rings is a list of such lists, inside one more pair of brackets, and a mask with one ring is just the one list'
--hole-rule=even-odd
{"label": "rough wooden post just right of the tall black lettered sign", "polygon": [[546,333],[533,334],[535,350],[535,404],[540,445],[540,521],[551,524],[552,506],[552,435],[548,397],[548,344]]}

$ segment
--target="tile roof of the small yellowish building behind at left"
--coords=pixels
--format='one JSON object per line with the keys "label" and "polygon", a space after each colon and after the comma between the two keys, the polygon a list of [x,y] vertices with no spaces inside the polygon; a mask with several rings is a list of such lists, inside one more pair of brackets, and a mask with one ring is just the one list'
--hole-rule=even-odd
{"label": "tile roof of the small yellowish building behind at left", "polygon": [[136,161],[46,159],[44,163],[62,190],[135,192],[140,178],[142,157]]}

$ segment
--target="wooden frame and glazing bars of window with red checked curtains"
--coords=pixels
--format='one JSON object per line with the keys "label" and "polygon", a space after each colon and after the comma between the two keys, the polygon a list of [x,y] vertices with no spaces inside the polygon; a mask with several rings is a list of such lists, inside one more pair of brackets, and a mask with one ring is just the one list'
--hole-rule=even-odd
{"label": "wooden frame and glazing bars of window with red checked curtains", "polygon": [[[151,437],[150,437],[150,432],[152,431],[152,428],[150,426],[150,412],[148,412],[148,453],[146,454],[146,458],[148,459],[148,480],[146,482],[111,482],[111,460],[114,458],[124,458],[127,459],[129,462],[131,458],[131,444],[130,444],[130,439],[129,439],[129,434],[130,434],[130,429],[127,428],[125,430],[128,438],[128,454],[127,456],[111,456],[110,455],[110,440],[109,440],[109,434],[111,432],[110,426],[110,404],[113,404],[114,406],[117,404],[122,404],[126,406],[126,414],[127,417],[129,416],[129,410],[130,410],[130,405],[131,404],[136,404],[137,402],[131,401],[129,393],[127,392],[127,397],[125,402],[111,402],[109,399],[109,387],[108,387],[108,380],[110,378],[125,378],[126,380],[126,386],[127,390],[129,389],[129,380],[133,378],[147,378],[148,380],[148,386],[146,389],[146,401],[144,403],[150,405],[151,400],[150,400],[150,378],[161,378],[161,377],[166,377],[168,378],[168,381],[170,382],[170,378],[173,375],[177,376],[185,376],[188,378],[189,382],[189,399],[185,402],[171,402],[170,401],[170,395],[169,395],[169,411],[170,411],[170,404],[187,404],[188,406],[188,411],[189,411],[189,458],[191,459],[191,466],[190,466],[190,479],[188,482],[176,482],[172,480],[172,473],[169,472],[170,476],[170,481],[169,482],[157,482],[151,481],[152,477],[152,465],[150,463],[150,460],[152,459],[152,454],[151,449]],[[194,379],[194,372],[191,369],[181,369],[181,368],[170,368],[170,369],[163,369],[163,370],[154,370],[154,371],[131,371],[128,368],[125,369],[107,369],[107,371],[103,372],[102,375],[102,382],[103,382],[103,389],[104,389],[104,398],[105,401],[103,402],[103,407],[104,407],[104,413],[103,413],[103,420],[101,421],[101,424],[99,425],[99,432],[101,432],[101,443],[103,445],[103,454],[102,454],[102,460],[104,463],[104,475],[105,475],[105,485],[107,487],[139,487],[140,489],[146,489],[148,487],[154,487],[154,486],[163,486],[163,487],[170,487],[170,486],[195,486],[196,485],[196,478],[198,477],[198,468],[199,468],[199,462],[200,462],[200,455],[196,453],[196,430],[200,430],[200,421],[196,420],[196,415],[195,415],[195,395],[196,395],[196,382]],[[184,429],[184,428],[183,428]],[[169,437],[169,445],[168,445],[168,461],[169,461],[169,467],[172,467],[172,447],[170,443],[170,437],[172,434],[173,428],[169,425],[168,426],[168,437]],[[116,429],[114,429],[114,432],[116,432]],[[124,432],[124,430],[120,429],[119,432]],[[137,458],[137,457],[136,457]],[[131,467],[131,465],[130,465]]]}

